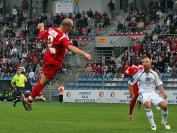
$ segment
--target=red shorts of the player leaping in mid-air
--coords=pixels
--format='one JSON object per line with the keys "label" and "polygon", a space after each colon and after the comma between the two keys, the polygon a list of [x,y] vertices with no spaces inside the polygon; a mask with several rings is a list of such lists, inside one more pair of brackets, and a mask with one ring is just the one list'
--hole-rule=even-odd
{"label": "red shorts of the player leaping in mid-air", "polygon": [[57,61],[51,56],[44,55],[43,64],[42,71],[48,80],[52,80],[61,69],[61,61]]}

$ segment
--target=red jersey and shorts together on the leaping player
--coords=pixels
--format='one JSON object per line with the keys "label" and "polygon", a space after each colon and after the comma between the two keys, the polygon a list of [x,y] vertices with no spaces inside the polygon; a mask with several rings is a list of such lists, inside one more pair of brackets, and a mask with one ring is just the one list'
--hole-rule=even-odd
{"label": "red jersey and shorts together on the leaping player", "polygon": [[42,71],[46,78],[51,80],[60,70],[66,48],[71,43],[68,36],[57,28],[50,28],[40,32],[38,38],[44,39],[48,46],[48,50],[43,57]]}

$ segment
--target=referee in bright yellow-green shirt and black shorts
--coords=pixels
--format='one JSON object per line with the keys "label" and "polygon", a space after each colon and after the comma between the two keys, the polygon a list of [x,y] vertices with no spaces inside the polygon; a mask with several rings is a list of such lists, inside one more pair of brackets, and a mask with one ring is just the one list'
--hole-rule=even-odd
{"label": "referee in bright yellow-green shirt and black shorts", "polygon": [[12,78],[11,85],[14,88],[14,100],[13,106],[15,107],[17,102],[20,102],[20,96],[24,93],[25,84],[27,82],[27,78],[25,75],[21,74],[22,70],[20,67],[17,68],[15,76]]}

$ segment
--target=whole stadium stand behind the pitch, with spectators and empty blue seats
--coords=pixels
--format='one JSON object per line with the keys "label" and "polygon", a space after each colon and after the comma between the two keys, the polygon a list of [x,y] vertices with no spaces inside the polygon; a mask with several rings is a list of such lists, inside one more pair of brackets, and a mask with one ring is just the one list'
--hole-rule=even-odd
{"label": "whole stadium stand behind the pitch, with spectators and empty blue seats", "polygon": [[[106,12],[92,10],[68,16],[36,12],[31,20],[21,7],[14,7],[5,19],[0,17],[0,80],[11,80],[15,69],[22,66],[32,84],[35,84],[40,77],[42,55],[47,49],[45,43],[36,39],[36,25],[44,22],[46,28],[49,28],[59,24],[65,17],[75,21],[76,26],[69,33],[74,45],[93,53],[96,62],[90,62],[91,69],[86,72],[86,63],[68,53],[61,73],[58,74],[63,76],[57,75],[49,86],[54,88],[50,92],[52,95],[57,95],[58,80],[65,81],[66,89],[127,89],[128,79],[124,78],[123,71],[130,65],[131,58],[143,56],[151,58],[153,69],[161,73],[167,89],[177,86],[177,40],[176,35],[173,35],[177,17],[175,12],[165,14],[152,5],[111,17]],[[95,50],[96,36],[115,37],[113,43],[117,49],[100,50],[101,52]],[[121,40],[123,37],[125,39]],[[73,60],[80,60],[81,68]],[[31,77],[32,75],[35,77]],[[68,75],[71,78],[66,80]],[[49,89],[44,89],[44,93],[51,95]]]}

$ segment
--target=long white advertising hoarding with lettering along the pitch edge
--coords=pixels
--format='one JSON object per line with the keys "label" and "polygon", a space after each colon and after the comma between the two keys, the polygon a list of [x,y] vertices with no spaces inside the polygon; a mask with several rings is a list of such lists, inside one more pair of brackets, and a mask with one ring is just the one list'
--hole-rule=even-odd
{"label": "long white advertising hoarding with lettering along the pitch edge", "polygon": [[[177,104],[177,90],[166,90],[168,103]],[[127,90],[65,90],[64,102],[129,103]]]}

